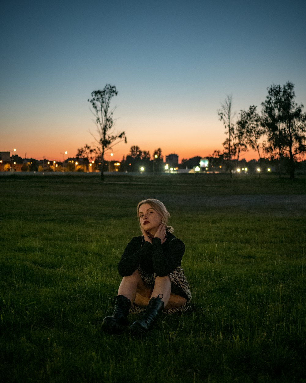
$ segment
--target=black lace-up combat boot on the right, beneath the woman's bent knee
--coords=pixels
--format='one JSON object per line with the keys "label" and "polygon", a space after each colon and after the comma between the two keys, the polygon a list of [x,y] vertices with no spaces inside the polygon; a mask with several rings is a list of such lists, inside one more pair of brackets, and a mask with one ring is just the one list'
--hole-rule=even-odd
{"label": "black lace-up combat boot on the right, beneath the woman's bent knee", "polygon": [[[160,295],[163,297],[162,294]],[[160,295],[157,298],[153,297],[150,299],[142,318],[139,321],[133,322],[129,327],[130,331],[134,334],[146,334],[153,328],[158,316],[164,309],[164,302],[159,298]]]}

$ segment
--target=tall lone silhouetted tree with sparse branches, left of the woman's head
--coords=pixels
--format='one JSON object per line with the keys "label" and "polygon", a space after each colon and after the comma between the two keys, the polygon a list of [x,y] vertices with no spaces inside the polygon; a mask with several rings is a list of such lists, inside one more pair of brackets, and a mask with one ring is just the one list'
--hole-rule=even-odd
{"label": "tall lone silhouetted tree with sparse branches, left of the woman's head", "polygon": [[91,98],[88,99],[92,108],[93,115],[96,118],[96,127],[98,132],[98,138],[94,135],[94,139],[97,143],[96,149],[99,157],[101,158],[101,180],[104,180],[103,164],[104,154],[106,151],[111,150],[114,145],[121,141],[127,142],[125,132],[114,133],[114,121],[112,118],[114,109],[110,109],[111,100],[114,96],[117,96],[118,92],[114,85],[105,85],[103,90],[94,90],[91,92]]}

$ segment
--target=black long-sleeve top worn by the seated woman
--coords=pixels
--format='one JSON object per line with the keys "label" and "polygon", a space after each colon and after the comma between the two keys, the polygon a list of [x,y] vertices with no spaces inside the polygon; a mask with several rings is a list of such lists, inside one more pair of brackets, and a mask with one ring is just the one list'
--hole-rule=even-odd
{"label": "black long-sleeve top worn by the seated woman", "polygon": [[145,242],[143,236],[133,237],[125,247],[118,271],[121,277],[126,277],[140,267],[148,274],[156,273],[158,277],[164,277],[181,266],[184,252],[184,243],[170,232],[167,232],[163,244],[160,238],[153,238],[150,243]]}

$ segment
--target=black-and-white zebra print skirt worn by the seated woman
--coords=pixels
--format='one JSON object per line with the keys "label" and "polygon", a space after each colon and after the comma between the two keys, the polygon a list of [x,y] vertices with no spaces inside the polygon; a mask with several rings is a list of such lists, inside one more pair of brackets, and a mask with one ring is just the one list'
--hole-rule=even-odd
{"label": "black-and-white zebra print skirt worn by the seated woman", "polygon": [[[143,271],[140,267],[138,267],[138,272],[140,274],[140,277],[142,278],[143,282],[145,282],[148,285],[154,285],[156,274],[148,274],[145,271]],[[191,309],[190,301],[191,301],[191,292],[190,292],[190,286],[187,282],[187,279],[184,274],[184,270],[181,267],[177,267],[173,270],[169,275],[169,278],[171,280],[171,294],[176,294],[179,296],[182,296],[187,301],[180,307],[175,307],[172,309],[163,310],[163,313],[165,314],[172,314],[177,312],[183,312],[188,311]],[[143,311],[145,311],[145,307],[138,306],[137,304],[133,303],[130,308],[131,314],[139,314]]]}

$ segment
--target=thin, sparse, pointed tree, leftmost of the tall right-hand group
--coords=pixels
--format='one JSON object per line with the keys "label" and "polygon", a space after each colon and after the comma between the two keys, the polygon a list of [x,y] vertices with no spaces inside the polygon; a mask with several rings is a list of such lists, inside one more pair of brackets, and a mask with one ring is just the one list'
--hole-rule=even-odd
{"label": "thin, sparse, pointed tree, leftmost of the tall right-hand group", "polygon": [[228,160],[228,169],[230,177],[232,178],[232,166],[231,159],[233,153],[235,152],[235,147],[233,145],[234,138],[234,124],[233,124],[233,96],[226,95],[224,103],[221,103],[221,109],[218,110],[219,120],[223,122],[225,126],[225,134],[228,135],[223,146],[225,149],[226,158]]}

